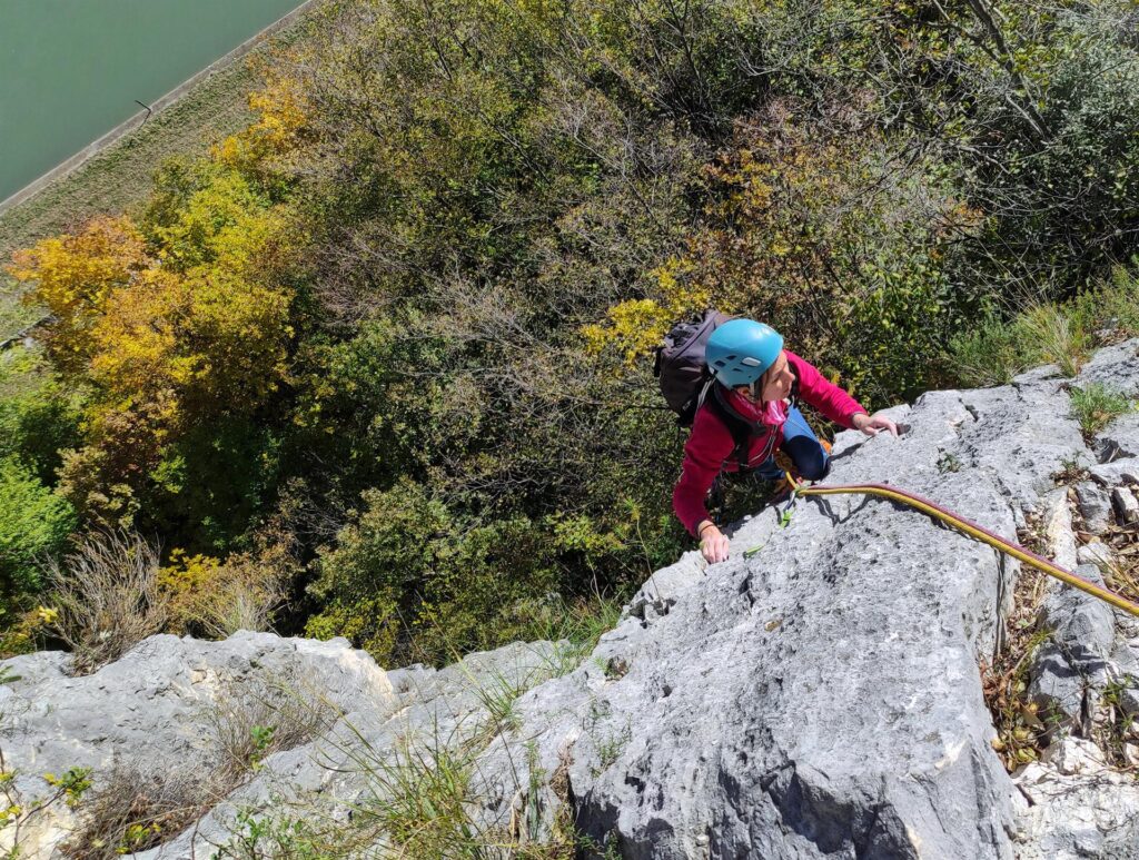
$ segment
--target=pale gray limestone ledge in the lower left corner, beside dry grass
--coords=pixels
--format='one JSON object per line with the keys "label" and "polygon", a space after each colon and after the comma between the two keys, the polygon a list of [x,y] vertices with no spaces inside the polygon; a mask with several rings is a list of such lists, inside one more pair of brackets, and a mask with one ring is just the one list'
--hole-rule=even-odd
{"label": "pale gray limestone ledge in the lower left corner, beside dry grass", "polygon": [[[58,653],[5,661],[19,674],[2,689],[0,744],[24,798],[49,793],[44,773],[91,768],[95,786],[116,768],[190,778],[220,767],[219,719],[246,695],[295,695],[329,718],[391,711],[398,701],[383,670],[346,639],[281,639],[238,632],[221,642],[155,636],[90,675],[71,678]],[[288,690],[286,694],[285,690]],[[241,701],[240,703],[238,701]],[[273,699],[284,707],[284,699]],[[237,703],[237,704],[235,704]],[[252,705],[255,706],[255,705]],[[316,706],[316,705],[314,705]],[[47,857],[77,819],[55,804],[36,821]],[[0,830],[0,846],[7,847]],[[38,855],[30,845],[25,854]]]}

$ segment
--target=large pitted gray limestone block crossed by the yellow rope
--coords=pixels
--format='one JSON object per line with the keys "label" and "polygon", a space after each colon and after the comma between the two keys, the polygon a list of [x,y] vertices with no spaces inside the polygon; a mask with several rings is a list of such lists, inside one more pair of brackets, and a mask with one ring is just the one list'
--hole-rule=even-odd
{"label": "large pitted gray limestone block crossed by the yellow rope", "polygon": [[[827,483],[896,484],[1009,537],[1088,456],[1047,378],[894,417],[901,439],[839,434]],[[764,511],[732,546],[747,557],[671,572],[665,613],[634,600],[595,661],[521,701],[579,826],[630,858],[1009,857],[975,660],[1016,565],[863,495],[804,499],[787,529]],[[618,658],[620,678],[592,665]],[[492,745],[486,772],[508,751]]]}

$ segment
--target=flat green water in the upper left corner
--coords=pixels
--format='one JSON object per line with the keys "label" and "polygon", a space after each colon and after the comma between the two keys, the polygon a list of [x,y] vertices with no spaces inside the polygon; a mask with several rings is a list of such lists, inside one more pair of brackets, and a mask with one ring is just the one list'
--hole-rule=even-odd
{"label": "flat green water in the upper left corner", "polygon": [[301,0],[0,0],[0,200]]}

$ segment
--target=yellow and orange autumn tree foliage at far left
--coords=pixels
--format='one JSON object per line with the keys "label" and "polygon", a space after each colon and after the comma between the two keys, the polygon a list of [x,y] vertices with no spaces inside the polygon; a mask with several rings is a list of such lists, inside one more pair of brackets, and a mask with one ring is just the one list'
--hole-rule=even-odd
{"label": "yellow and orange autumn tree foliage at far left", "polygon": [[87,444],[65,457],[62,486],[117,524],[163,484],[183,433],[253,415],[288,376],[294,289],[277,272],[290,219],[239,171],[207,165],[194,181],[157,221],[97,220],[11,267],[56,318],[59,369],[90,392]]}

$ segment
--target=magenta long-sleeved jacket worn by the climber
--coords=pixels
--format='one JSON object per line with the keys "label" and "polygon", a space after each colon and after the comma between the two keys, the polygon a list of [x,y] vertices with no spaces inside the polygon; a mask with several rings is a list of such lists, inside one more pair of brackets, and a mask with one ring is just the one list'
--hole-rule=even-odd
{"label": "magenta long-sleeved jacket worn by the climber", "polygon": [[[828,380],[809,361],[804,361],[790,350],[785,352],[792,371],[798,377],[800,399],[836,424],[852,428],[854,426],[851,423],[852,418],[859,412],[866,412],[859,402]],[[745,408],[751,406],[737,394],[729,396],[732,398],[732,406]],[[736,398],[739,398],[738,403]],[[756,435],[747,452],[748,467],[759,466],[781,443],[782,426],[768,427],[767,433]],[[691,435],[685,443],[685,464],[680,470],[680,480],[672,492],[672,509],[693,537],[696,537],[696,526],[702,521],[711,519],[705,500],[716,475],[722,470],[739,469],[739,464],[731,456],[735,449],[736,442],[723,419],[707,404],[700,407],[693,421]]]}

